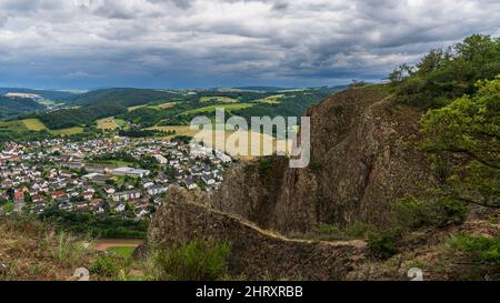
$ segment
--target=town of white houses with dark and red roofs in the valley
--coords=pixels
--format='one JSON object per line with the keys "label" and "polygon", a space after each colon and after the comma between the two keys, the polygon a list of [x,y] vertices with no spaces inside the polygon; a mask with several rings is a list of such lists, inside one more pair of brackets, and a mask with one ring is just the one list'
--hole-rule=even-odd
{"label": "town of white houses with dark and red roofs in the valley", "polygon": [[232,162],[202,143],[162,138],[59,138],[0,148],[0,215],[56,208],[149,219],[170,186],[211,193]]}

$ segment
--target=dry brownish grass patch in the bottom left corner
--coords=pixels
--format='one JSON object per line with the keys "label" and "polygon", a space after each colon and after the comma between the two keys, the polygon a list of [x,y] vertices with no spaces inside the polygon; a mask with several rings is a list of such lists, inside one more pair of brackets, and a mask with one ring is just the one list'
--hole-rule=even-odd
{"label": "dry brownish grass patch in the bottom left corner", "polygon": [[96,252],[87,240],[22,218],[0,219],[0,281],[70,281]]}

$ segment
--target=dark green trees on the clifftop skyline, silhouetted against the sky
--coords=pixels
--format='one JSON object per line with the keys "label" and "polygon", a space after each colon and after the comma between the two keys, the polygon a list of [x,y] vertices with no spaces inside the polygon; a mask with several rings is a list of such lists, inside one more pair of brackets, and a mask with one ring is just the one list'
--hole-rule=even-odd
{"label": "dark green trees on the clifftop skyline, silhouetted against the sky", "polygon": [[476,82],[500,74],[500,39],[474,34],[448,50],[432,50],[416,65],[390,75],[398,100],[424,109],[448,105],[476,92]]}

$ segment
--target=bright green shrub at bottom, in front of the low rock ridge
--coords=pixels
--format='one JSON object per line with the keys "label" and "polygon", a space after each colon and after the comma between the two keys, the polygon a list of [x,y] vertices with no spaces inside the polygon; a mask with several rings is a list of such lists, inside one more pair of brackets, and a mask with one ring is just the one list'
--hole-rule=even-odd
{"label": "bright green shrub at bottom, in front of the low rock ridge", "polygon": [[230,246],[196,240],[161,250],[154,257],[162,281],[214,281],[227,274]]}

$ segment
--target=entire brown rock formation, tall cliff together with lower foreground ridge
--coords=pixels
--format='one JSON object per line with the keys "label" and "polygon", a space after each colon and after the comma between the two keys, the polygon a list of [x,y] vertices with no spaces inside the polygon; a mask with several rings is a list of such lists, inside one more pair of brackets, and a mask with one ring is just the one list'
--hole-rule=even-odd
{"label": "entire brown rock formation, tall cliff together with lower foreground ridge", "polygon": [[[168,192],[141,252],[194,239],[228,241],[229,269],[250,279],[344,280],[366,261],[362,241],[311,242],[279,235],[319,223],[383,225],[391,203],[432,182],[410,147],[420,114],[380,88],[348,90],[312,108],[311,164],[270,156],[229,170],[213,195]],[[274,231],[274,232],[270,232]]]}

